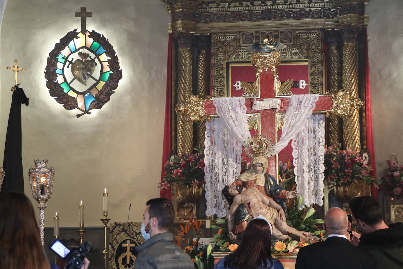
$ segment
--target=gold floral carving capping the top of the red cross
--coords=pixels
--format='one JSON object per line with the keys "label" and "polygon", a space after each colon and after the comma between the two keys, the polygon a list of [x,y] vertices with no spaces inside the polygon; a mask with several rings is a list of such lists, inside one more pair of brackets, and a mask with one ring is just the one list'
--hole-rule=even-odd
{"label": "gold floral carving capping the top of the red cross", "polygon": [[256,69],[256,77],[264,71],[273,73],[274,79],[278,79],[277,67],[280,64],[280,52],[278,50],[272,50],[271,52],[253,52],[251,55],[251,61],[253,67]]}

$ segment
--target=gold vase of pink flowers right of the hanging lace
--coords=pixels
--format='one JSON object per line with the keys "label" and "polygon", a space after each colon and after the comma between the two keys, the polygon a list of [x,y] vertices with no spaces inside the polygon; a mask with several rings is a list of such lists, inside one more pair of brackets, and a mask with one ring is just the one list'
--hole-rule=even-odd
{"label": "gold vase of pink flowers right of the hanging lace", "polygon": [[374,182],[374,177],[370,176],[371,167],[356,151],[341,150],[340,145],[334,145],[326,148],[324,158],[325,179],[335,184],[334,196],[340,202],[361,196],[365,184]]}

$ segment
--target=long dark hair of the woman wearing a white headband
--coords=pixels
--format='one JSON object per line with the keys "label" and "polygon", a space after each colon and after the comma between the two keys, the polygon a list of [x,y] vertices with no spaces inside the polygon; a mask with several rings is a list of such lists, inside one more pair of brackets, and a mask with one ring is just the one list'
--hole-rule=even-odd
{"label": "long dark hair of the woman wearing a white headband", "polygon": [[[224,267],[236,269],[264,268],[273,265],[271,254],[271,230],[264,219],[252,219],[245,229],[243,240],[239,247],[226,256]],[[268,264],[268,262],[270,264]]]}

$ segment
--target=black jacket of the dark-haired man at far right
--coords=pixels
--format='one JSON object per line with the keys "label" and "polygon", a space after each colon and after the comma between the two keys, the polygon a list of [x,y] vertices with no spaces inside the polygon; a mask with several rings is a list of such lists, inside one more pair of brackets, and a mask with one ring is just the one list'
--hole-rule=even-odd
{"label": "black jacket of the dark-haired man at far right", "polygon": [[379,268],[403,268],[403,228],[380,229],[363,234],[359,248],[373,254]]}

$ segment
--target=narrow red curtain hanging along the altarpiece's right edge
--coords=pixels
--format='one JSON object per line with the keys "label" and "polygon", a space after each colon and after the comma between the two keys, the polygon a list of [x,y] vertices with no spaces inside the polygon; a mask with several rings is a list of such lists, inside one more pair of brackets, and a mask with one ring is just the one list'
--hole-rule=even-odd
{"label": "narrow red curtain hanging along the altarpiece's right edge", "polygon": [[[370,62],[368,58],[368,35],[365,29],[365,117],[367,130],[367,147],[371,154],[372,173],[376,180],[376,163],[374,150],[374,134],[372,132],[372,109],[371,109],[371,86],[370,86]],[[378,189],[375,184],[371,184],[371,196],[378,200]]]}

